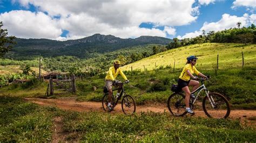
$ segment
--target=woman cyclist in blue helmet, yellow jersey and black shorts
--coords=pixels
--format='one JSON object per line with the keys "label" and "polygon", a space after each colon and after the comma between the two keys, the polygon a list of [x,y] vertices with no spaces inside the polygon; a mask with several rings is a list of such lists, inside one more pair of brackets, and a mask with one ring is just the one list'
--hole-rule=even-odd
{"label": "woman cyclist in blue helmet, yellow jersey and black shorts", "polygon": [[[188,56],[187,57],[187,63],[186,66],[183,68],[180,76],[179,76],[179,80],[178,80],[178,88],[182,89],[185,92],[185,103],[186,103],[186,111],[188,113],[194,114],[194,111],[192,111],[192,109],[190,109],[190,97],[191,98],[195,98],[194,95],[191,95],[190,89],[188,87],[192,86],[192,92],[194,90],[196,90],[199,87],[199,82],[196,81],[198,80],[197,76],[193,76],[193,74],[195,73],[198,76],[207,78],[208,76],[203,75],[202,73],[200,73],[196,67],[194,65],[196,65],[197,63],[197,57],[194,55]],[[190,77],[193,80],[190,80]]]}

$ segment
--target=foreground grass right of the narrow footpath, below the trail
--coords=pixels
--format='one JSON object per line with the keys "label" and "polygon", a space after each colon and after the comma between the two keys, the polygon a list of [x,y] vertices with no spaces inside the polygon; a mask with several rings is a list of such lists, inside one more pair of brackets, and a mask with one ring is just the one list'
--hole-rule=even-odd
{"label": "foreground grass right of the narrow footpath, below the trail", "polygon": [[88,142],[254,142],[255,128],[239,120],[177,118],[170,113],[110,115],[98,112],[69,112],[64,130]]}

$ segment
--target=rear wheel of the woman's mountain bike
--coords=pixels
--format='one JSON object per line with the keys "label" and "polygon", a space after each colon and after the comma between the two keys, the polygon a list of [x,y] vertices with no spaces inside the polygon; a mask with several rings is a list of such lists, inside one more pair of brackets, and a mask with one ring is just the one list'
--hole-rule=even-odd
{"label": "rear wheel of the woman's mountain bike", "polygon": [[185,95],[174,93],[169,96],[167,101],[169,111],[174,116],[184,116],[186,112]]}

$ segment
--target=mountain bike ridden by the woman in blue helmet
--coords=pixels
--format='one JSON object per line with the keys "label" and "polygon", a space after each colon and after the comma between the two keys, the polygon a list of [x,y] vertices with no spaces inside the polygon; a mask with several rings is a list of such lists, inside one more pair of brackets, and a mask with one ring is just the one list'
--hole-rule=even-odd
{"label": "mountain bike ridden by the woman in blue helmet", "polygon": [[[195,98],[190,98],[190,108],[195,109],[196,106],[200,105],[195,105],[195,103],[200,92],[204,90],[205,97],[203,98],[203,110],[205,114],[210,118],[227,118],[230,115],[230,104],[223,95],[217,92],[209,92],[205,87],[205,80],[207,80],[207,78],[199,78],[201,86],[191,92],[191,94],[194,94]],[[174,116],[186,115],[185,95],[183,92],[174,91],[174,93],[168,98],[167,106]]]}

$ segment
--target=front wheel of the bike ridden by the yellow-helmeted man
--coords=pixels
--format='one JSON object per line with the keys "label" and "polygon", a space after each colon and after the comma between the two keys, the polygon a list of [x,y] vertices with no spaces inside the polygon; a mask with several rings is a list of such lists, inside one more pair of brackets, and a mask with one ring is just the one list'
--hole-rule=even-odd
{"label": "front wheel of the bike ridden by the yellow-helmeted man", "polygon": [[122,100],[122,110],[125,115],[131,115],[136,111],[136,104],[132,96],[125,95]]}

